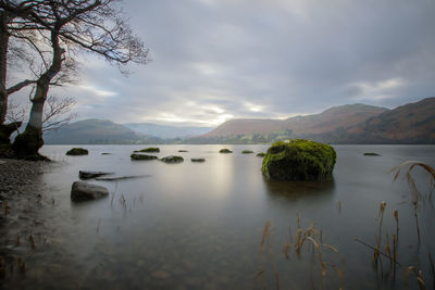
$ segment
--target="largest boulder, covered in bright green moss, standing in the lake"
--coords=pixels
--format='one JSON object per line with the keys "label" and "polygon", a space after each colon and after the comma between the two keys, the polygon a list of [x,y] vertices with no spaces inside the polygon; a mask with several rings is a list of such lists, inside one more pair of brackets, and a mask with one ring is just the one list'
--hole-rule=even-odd
{"label": "largest boulder, covered in bright green moss, standing in the lake", "polygon": [[336,157],[328,144],[307,139],[277,141],[268,149],[261,171],[269,179],[327,180]]}

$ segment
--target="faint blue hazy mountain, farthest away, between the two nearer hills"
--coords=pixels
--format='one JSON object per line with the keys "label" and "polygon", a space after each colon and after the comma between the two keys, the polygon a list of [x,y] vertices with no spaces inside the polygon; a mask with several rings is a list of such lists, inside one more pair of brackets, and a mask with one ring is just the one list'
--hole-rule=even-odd
{"label": "faint blue hazy mountain, farthest away, between the two nearer hills", "polygon": [[211,131],[212,127],[176,127],[153,123],[128,123],[123,126],[140,134],[151,135],[163,139],[188,138]]}

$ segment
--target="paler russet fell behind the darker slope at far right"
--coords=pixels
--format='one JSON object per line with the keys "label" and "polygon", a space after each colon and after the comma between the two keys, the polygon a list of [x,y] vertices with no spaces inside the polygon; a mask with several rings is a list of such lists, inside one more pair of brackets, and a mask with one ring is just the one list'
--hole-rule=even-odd
{"label": "paler russet fell behind the darker slope at far right", "polygon": [[231,137],[238,135],[269,135],[275,131],[293,134],[323,134],[339,127],[359,124],[387,111],[366,104],[347,104],[331,108],[320,114],[295,116],[287,119],[231,119],[202,137]]}

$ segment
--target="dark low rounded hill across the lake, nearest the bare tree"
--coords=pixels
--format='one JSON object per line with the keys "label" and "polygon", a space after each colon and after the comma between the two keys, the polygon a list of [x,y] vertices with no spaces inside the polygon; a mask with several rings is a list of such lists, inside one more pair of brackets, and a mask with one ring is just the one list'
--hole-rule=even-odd
{"label": "dark low rounded hill across the lake, nearest the bare tree", "polygon": [[161,139],[140,135],[108,119],[88,118],[44,135],[46,144],[159,143]]}

